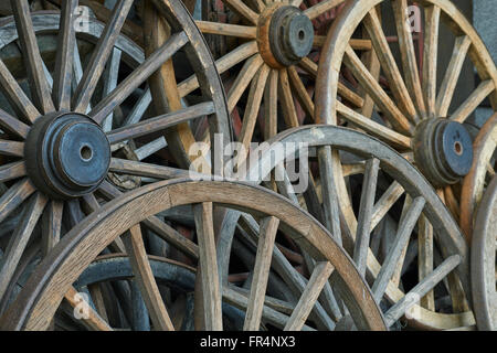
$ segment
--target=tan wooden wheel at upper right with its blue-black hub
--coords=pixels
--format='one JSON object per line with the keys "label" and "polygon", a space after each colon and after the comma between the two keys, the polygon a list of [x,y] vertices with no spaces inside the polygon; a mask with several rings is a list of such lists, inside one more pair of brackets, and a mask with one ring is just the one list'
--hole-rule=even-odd
{"label": "tan wooden wheel at upper right with its blue-black hub", "polygon": [[[423,66],[417,67],[411,33],[408,0],[351,1],[340,12],[328,33],[319,64],[316,115],[322,122],[337,124],[342,119],[382,139],[411,157],[416,167],[437,188],[455,218],[458,218],[461,195],[458,182],[469,172],[473,161],[472,139],[463,126],[468,117],[489,99],[497,109],[497,69],[478,34],[448,0],[416,1],[424,9]],[[387,41],[385,25],[379,20],[377,7],[393,11],[399,46]],[[421,15],[421,14],[420,14]],[[373,52],[379,57],[387,78],[384,85],[359,60],[349,39],[366,29]],[[438,33],[452,34],[452,57],[444,63]],[[399,49],[400,61],[394,57]],[[464,65],[472,65],[479,84],[461,105],[453,99],[463,95],[467,85],[461,79]],[[443,65],[446,65],[443,67]],[[349,69],[359,87],[376,104],[376,119],[364,117],[340,99],[337,92],[340,69]],[[442,72],[442,75],[437,75]]]}

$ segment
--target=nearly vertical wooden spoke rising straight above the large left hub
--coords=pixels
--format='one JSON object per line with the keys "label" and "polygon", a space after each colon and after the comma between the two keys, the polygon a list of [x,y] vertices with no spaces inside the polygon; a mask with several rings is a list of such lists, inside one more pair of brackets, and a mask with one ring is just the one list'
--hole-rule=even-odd
{"label": "nearly vertical wooden spoke rising straight above the large left hub", "polygon": [[62,1],[61,3],[61,24],[52,90],[52,99],[57,110],[71,109],[71,84],[74,46],[76,45],[74,14],[77,3],[77,0]]}

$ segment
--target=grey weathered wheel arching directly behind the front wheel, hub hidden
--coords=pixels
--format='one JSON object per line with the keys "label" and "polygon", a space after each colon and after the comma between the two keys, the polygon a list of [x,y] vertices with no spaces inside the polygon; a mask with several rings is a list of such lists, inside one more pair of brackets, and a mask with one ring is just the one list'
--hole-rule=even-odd
{"label": "grey weathered wheel arching directly behind the front wheel, hub hidden", "polygon": [[[268,142],[269,146],[254,150],[261,157],[254,160],[254,164],[248,163],[245,178],[260,181],[285,159],[295,158],[292,149],[278,153],[281,145],[276,142],[302,143],[298,149],[309,147],[310,151],[317,150],[313,160],[317,159],[319,169],[316,181],[308,181],[305,206],[315,217],[322,220],[335,239],[342,242],[353,256],[367,276],[374,298],[379,302],[384,298],[392,306],[387,311],[389,325],[402,317],[409,307],[408,301],[416,296],[421,303],[409,311],[417,313],[409,320],[414,327],[442,330],[475,324],[465,299],[470,300],[468,247],[447,208],[408,160],[367,135],[332,126],[289,129]],[[331,153],[349,162],[340,162],[340,158],[336,158],[331,164]],[[350,153],[356,158],[351,159]],[[360,182],[361,174],[362,192],[359,192],[360,183],[348,185],[346,180]],[[340,179],[334,179],[335,175],[340,175]],[[380,180],[389,183],[380,188]],[[276,183],[282,194],[298,202],[292,193],[294,186],[288,183],[288,175]],[[309,197],[309,194],[314,196]],[[359,210],[357,218],[352,210]],[[240,214],[234,212],[226,215],[218,246],[218,260],[225,269],[221,274],[224,280],[228,278],[226,259],[235,253],[231,246],[239,217]],[[389,217],[393,217],[394,223],[390,229],[384,228]],[[382,255],[379,255],[380,246],[385,248]],[[411,274],[402,271],[408,268],[411,268]],[[451,272],[454,268],[457,276]],[[444,285],[438,285],[442,282]],[[451,302],[444,304],[445,296]],[[322,303],[326,307],[326,302]]]}

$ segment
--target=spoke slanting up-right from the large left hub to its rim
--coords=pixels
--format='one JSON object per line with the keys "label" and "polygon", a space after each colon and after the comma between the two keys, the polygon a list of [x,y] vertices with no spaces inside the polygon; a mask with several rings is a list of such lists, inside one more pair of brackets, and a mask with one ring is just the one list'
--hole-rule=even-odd
{"label": "spoke slanting up-right from the large left hub to its rim", "polygon": [[95,106],[89,116],[102,121],[120,105],[136,88],[138,88],[151,74],[154,74],[167,60],[188,43],[184,32],[176,33],[150,55],[137,69],[124,79],[116,89]]}

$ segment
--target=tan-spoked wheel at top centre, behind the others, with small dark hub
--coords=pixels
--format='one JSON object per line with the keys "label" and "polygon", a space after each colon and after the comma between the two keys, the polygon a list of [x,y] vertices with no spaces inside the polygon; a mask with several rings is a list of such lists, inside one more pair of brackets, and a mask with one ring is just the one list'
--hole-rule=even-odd
{"label": "tan-spoked wheel at top centre, behind the others, with small dark hub", "polygon": [[[343,2],[326,0],[310,6],[302,0],[225,0],[233,14],[229,23],[195,21],[204,35],[234,40],[234,47],[215,63],[221,74],[232,74],[223,75],[228,108],[236,140],[245,151],[253,140],[315,120],[313,90],[325,38],[315,33],[319,23],[313,20]],[[370,49],[369,41],[352,40],[351,45]],[[193,79],[182,85],[184,93],[198,87]],[[341,84],[339,89],[352,104],[363,100]]]}

